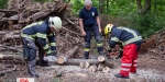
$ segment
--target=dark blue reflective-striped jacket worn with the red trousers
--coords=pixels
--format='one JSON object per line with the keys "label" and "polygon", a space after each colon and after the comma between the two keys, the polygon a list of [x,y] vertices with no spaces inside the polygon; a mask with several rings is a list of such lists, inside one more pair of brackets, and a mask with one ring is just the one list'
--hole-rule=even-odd
{"label": "dark blue reflective-striped jacket worn with the red trousers", "polygon": [[110,48],[113,48],[118,43],[123,46],[128,44],[141,44],[142,36],[135,30],[128,27],[112,27],[111,38],[109,40]]}

